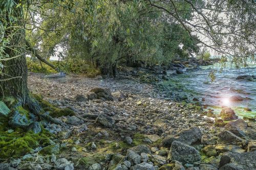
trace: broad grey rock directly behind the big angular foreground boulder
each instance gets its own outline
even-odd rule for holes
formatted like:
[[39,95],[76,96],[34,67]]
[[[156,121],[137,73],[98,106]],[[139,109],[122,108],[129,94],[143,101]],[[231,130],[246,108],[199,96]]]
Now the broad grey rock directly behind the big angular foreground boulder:
[[180,141],[185,144],[193,144],[201,142],[202,133],[198,127],[191,127],[189,129],[182,130],[175,136],[167,136],[163,139],[164,147],[170,147],[174,140]]

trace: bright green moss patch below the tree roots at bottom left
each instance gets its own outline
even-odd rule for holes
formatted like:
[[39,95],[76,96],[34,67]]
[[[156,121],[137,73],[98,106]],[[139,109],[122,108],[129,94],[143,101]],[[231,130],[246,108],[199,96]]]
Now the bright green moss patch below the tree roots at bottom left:
[[39,134],[33,132],[24,132],[21,129],[15,129],[14,132],[8,133],[8,127],[0,126],[0,158],[6,159],[10,157],[20,157],[33,149],[39,147],[39,145],[48,145],[51,135],[42,131]]

